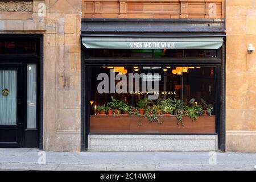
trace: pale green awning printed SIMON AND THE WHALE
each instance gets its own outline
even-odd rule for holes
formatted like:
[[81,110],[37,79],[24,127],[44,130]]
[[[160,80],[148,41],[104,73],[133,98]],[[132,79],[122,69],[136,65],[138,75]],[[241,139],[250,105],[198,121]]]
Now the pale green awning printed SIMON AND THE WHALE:
[[90,49],[218,49],[222,43],[222,37],[82,37],[82,44]]

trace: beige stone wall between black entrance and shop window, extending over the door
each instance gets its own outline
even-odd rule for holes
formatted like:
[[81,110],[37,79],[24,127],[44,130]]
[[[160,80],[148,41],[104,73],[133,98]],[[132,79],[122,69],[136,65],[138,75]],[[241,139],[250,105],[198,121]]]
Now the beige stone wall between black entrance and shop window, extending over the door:
[[[81,0],[5,2],[1,33],[44,35],[44,150],[80,151]],[[19,3],[31,9],[16,11]]]

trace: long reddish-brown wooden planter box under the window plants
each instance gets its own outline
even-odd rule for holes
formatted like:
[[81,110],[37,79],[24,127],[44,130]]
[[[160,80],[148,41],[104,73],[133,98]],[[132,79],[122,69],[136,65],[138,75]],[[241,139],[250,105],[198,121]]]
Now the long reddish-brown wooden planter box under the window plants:
[[90,133],[216,133],[215,116],[202,115],[192,121],[189,117],[183,117],[184,127],[177,125],[176,116],[163,116],[162,125],[157,122],[148,122],[142,119],[139,127],[139,117],[134,115],[90,115]]

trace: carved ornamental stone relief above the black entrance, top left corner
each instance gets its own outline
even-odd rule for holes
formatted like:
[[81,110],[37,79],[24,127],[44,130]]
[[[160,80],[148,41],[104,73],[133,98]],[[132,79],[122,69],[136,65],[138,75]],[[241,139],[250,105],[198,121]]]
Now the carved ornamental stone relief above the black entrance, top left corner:
[[33,1],[0,1],[0,11],[32,13]]

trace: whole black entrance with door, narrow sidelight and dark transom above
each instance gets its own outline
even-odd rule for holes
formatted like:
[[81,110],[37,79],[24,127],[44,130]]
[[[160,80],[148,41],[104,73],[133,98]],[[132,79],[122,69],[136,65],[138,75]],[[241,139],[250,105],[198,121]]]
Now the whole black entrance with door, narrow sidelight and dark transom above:
[[43,35],[0,34],[0,147],[43,147]]

